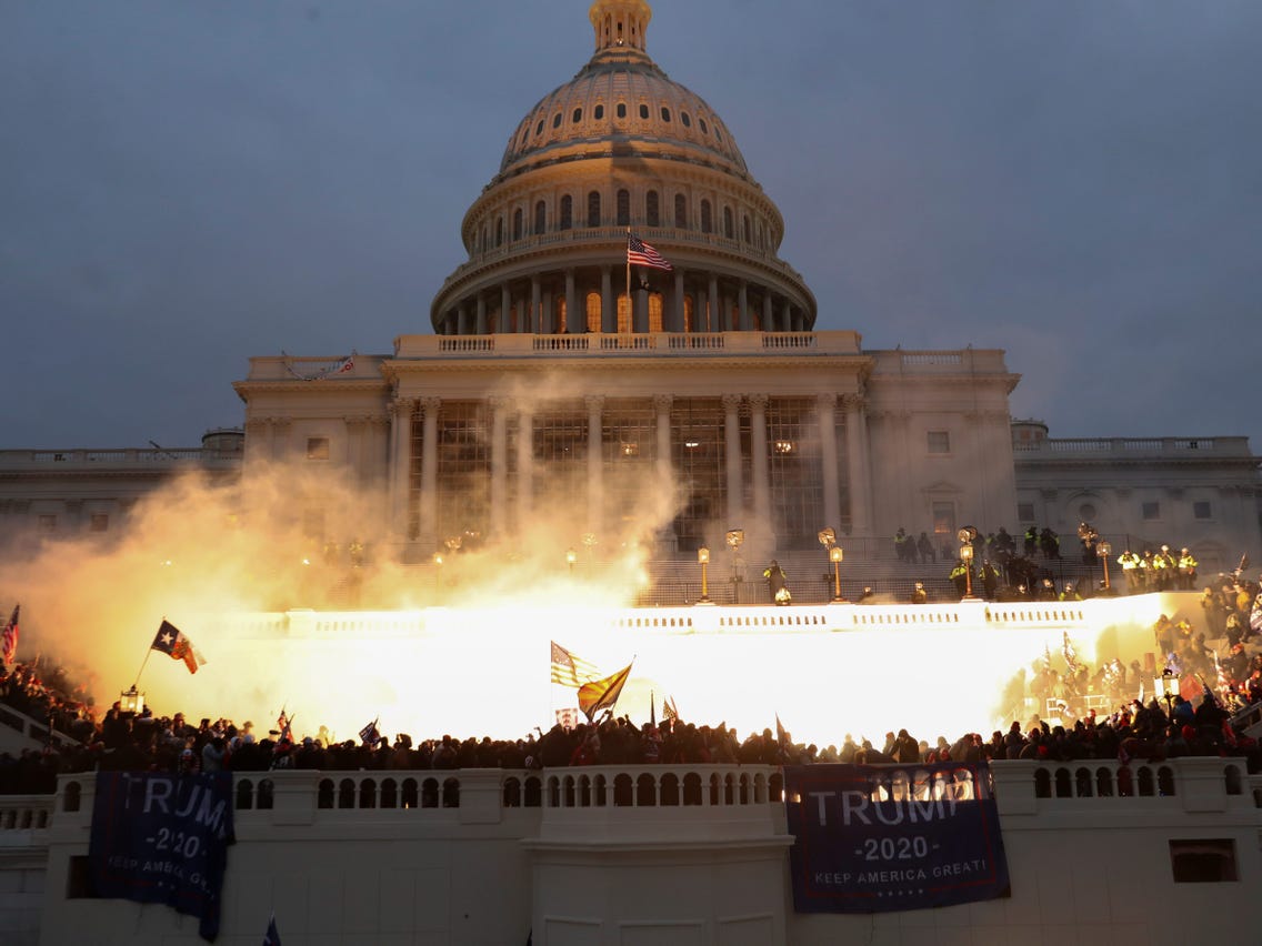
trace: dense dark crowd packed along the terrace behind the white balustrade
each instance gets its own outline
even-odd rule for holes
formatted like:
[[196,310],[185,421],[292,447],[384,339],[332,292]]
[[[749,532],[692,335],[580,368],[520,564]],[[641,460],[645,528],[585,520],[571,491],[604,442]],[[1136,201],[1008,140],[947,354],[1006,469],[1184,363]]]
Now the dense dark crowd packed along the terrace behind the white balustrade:
[[[1206,595],[1206,602],[1214,600],[1206,604],[1206,622],[1214,623],[1204,632],[1166,616],[1153,627],[1155,653],[1165,661],[1165,676],[1179,681],[1177,691],[1145,692],[1160,671],[1138,660],[1088,666],[1079,661],[1066,634],[1063,661],[1049,652],[1027,679],[1016,681],[1012,715],[1029,713],[1025,723],[1015,718],[1006,730],[994,730],[988,738],[970,732],[953,740],[938,735],[934,743],[904,729],[886,733],[877,743],[847,734],[840,745],[820,747],[796,743],[782,730],[765,729],[741,739],[724,723],[698,725],[671,718],[636,724],[612,714],[596,723],[558,724],[510,740],[443,735],[414,742],[403,733],[390,739],[375,725],[366,727],[357,740],[332,739],[323,728],[295,738],[284,713],[276,728],[265,733],[256,733],[251,721],[237,725],[230,719],[202,719],[193,724],[182,713],[158,716],[148,706],[127,713],[119,703],[97,719],[63,672],[53,671],[44,680],[38,667],[19,663],[0,675],[0,704],[48,720],[50,738],[42,749],[0,753],[0,793],[50,793],[59,773],[93,769],[445,771],[637,763],[1126,761],[1208,754],[1242,756],[1251,771],[1262,771],[1262,748],[1230,725],[1234,714],[1262,703],[1262,652],[1254,652],[1262,628],[1246,624],[1239,639],[1214,634],[1224,594],[1225,589],[1219,589]],[[1238,594],[1235,604],[1242,602],[1243,594]],[[1222,619],[1224,631],[1228,624],[1238,627],[1230,616]],[[1225,638],[1225,657],[1206,642],[1219,637]],[[1095,709],[1102,699],[1112,711]],[[53,739],[53,733],[61,738]]]

